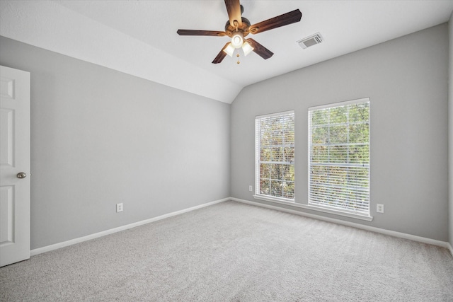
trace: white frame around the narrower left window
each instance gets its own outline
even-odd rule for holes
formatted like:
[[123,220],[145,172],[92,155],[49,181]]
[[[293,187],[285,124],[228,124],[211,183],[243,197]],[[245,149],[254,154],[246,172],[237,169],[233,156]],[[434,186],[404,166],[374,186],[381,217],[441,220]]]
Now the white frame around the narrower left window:
[[[283,115],[292,115],[293,119],[293,124],[292,124],[292,131],[293,131],[293,141],[292,141],[292,148],[294,151],[294,157],[292,163],[293,170],[295,170],[296,165],[296,156],[295,156],[295,113],[294,110],[288,110],[288,111],[283,111],[283,112],[275,112],[275,113],[270,113],[268,115],[257,115],[255,117],[255,194],[253,195],[254,198],[256,199],[261,199],[261,200],[266,200],[266,201],[273,201],[273,202],[284,202],[284,203],[291,203],[294,204],[295,200],[295,172],[294,172],[294,191],[293,191],[293,198],[285,198],[285,197],[277,197],[274,195],[268,195],[268,194],[261,194],[260,193],[260,149],[261,149],[261,144],[260,144],[260,135],[258,135],[258,122],[262,120],[263,118],[268,118],[268,117],[279,117]],[[284,163],[284,162],[281,162]],[[282,180],[283,181],[283,180]]]

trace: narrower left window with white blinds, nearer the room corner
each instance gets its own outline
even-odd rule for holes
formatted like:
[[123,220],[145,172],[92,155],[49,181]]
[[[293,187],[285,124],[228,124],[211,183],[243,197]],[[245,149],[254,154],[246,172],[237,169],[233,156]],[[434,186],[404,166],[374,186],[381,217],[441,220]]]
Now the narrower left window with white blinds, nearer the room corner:
[[255,119],[256,194],[294,202],[294,111]]

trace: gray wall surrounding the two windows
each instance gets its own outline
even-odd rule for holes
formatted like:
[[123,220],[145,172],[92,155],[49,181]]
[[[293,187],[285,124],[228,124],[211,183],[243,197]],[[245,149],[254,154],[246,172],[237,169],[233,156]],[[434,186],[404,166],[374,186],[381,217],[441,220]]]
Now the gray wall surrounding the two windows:
[[231,105],[231,197],[261,202],[248,192],[256,115],[295,110],[296,202],[306,204],[307,108],[369,97],[373,221],[293,209],[447,241],[447,30],[444,23],[244,88]]

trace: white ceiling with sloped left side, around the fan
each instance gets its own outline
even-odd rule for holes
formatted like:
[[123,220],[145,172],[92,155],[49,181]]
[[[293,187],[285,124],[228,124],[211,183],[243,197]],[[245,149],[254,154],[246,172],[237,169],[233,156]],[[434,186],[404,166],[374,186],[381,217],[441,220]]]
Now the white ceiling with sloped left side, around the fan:
[[[179,36],[178,29],[224,30],[224,1],[5,1],[0,35],[231,103],[245,86],[447,22],[453,0],[252,1],[258,23],[299,8],[302,20],[251,35],[274,52],[212,60],[228,37]],[[302,50],[297,40],[321,33]],[[1,46],[0,46],[1,47]]]

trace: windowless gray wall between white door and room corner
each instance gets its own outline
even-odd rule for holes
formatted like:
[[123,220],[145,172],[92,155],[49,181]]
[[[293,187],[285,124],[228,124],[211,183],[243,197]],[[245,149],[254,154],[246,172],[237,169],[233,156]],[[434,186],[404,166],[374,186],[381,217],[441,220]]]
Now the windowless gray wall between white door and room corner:
[[31,73],[32,249],[229,197],[230,105],[0,45]]

